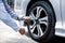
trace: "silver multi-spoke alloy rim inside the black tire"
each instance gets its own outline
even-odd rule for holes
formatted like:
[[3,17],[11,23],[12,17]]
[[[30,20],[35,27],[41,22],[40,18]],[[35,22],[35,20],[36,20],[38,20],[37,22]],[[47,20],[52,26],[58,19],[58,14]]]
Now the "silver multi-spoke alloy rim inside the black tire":
[[[41,14],[44,12],[44,16],[41,18]],[[42,14],[43,15],[43,14]],[[34,37],[40,38],[44,34],[48,28],[48,14],[47,11],[42,6],[36,6],[30,12],[31,24],[29,26],[29,30]],[[41,26],[42,25],[42,26]],[[42,28],[43,27],[43,28]],[[35,30],[37,29],[36,33]],[[42,30],[46,29],[46,30]]]

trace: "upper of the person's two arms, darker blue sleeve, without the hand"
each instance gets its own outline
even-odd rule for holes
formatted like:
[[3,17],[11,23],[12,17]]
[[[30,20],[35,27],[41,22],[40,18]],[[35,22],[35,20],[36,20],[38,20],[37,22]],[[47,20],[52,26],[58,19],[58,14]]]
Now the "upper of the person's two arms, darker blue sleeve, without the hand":
[[11,11],[11,8],[9,6],[6,0],[2,0],[4,8],[6,10],[6,12],[11,15],[12,18],[16,19],[16,20],[21,20],[22,18],[18,17],[18,15],[16,13],[14,13],[13,11]]

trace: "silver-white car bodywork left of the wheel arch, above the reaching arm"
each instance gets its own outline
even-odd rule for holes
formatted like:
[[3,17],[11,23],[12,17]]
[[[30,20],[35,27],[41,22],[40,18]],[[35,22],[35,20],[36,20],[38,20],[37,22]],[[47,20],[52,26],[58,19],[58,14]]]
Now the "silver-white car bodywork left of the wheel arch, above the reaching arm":
[[29,2],[30,2],[30,0],[15,0],[15,2],[14,2],[15,12],[18,13],[20,15],[25,16],[27,5],[28,5]]

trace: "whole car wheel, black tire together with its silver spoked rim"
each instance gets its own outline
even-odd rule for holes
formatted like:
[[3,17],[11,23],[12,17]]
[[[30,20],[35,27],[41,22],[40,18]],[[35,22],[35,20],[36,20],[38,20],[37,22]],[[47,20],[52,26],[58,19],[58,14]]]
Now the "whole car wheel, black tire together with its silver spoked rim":
[[[43,10],[41,11],[41,9],[43,9]],[[36,11],[38,11],[38,12],[41,11],[41,12],[39,12],[40,15],[38,17],[37,17],[37,13],[38,12],[36,12]],[[54,13],[53,13],[53,10],[52,10],[51,5],[47,1],[38,1],[38,2],[34,3],[30,6],[30,9],[28,10],[27,13],[28,13],[27,16],[30,16],[31,19],[36,22],[36,25],[35,25],[36,29],[34,31],[31,31],[34,27],[30,27],[30,26],[35,22],[31,20],[28,24],[28,32],[29,32],[30,38],[32,40],[37,41],[37,42],[48,42],[48,41],[50,41],[53,38],[54,33],[55,33],[55,29],[54,29],[54,24],[55,24],[55,22],[54,22]],[[34,14],[35,17],[32,16],[31,13]],[[46,26],[43,24],[41,24],[41,23],[39,24],[39,22],[41,20],[40,17],[44,17],[44,16],[48,16],[48,19],[43,19],[43,22],[47,20]],[[40,25],[39,29],[37,28],[37,25]],[[46,29],[44,29],[44,27],[46,27]],[[43,33],[40,31],[40,29],[42,30]],[[42,34],[40,35],[39,32],[42,33]]]

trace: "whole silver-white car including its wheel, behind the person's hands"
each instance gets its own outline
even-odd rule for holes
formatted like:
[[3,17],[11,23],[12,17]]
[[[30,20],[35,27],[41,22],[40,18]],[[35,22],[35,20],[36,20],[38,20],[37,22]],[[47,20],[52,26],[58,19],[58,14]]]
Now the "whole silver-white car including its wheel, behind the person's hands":
[[14,8],[31,17],[28,31],[35,41],[65,37],[65,0],[15,0]]

